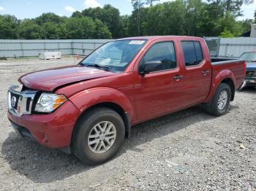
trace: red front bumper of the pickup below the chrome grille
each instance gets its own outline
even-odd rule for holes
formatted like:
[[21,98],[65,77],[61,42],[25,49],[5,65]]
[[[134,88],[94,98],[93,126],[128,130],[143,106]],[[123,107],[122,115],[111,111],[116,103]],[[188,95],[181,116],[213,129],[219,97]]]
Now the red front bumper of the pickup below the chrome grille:
[[53,149],[69,147],[72,130],[79,115],[79,110],[70,101],[65,102],[52,114],[17,116],[8,112],[8,118],[15,130],[18,130],[23,136]]

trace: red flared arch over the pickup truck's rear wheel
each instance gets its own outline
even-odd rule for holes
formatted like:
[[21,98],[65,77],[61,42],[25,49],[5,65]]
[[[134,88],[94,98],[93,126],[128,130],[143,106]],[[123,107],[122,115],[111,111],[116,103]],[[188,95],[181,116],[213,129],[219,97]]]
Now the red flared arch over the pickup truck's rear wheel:
[[217,74],[215,77],[213,75],[213,78],[211,80],[211,90],[208,93],[206,100],[204,101],[205,103],[211,101],[211,99],[214,97],[214,94],[217,91],[217,88],[219,87],[219,84],[224,79],[231,79],[233,81],[233,84],[236,86],[236,78],[232,71],[230,71],[228,69],[220,71],[219,74]]

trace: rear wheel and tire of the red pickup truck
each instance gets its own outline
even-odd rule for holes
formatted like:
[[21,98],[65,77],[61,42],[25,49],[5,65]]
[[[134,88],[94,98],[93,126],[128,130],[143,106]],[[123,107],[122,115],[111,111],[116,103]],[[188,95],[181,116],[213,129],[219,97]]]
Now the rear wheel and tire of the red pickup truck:
[[[223,101],[222,102],[222,101],[219,101],[219,99],[221,98],[221,96],[222,96],[221,93],[223,93],[223,92],[224,92],[224,94],[222,94],[222,95],[227,95],[227,100],[224,101],[222,99],[222,101]],[[217,91],[214,95],[214,98],[211,100],[211,105],[206,106],[206,111],[209,114],[212,114],[212,115],[215,115],[215,116],[220,116],[222,114],[227,113],[227,108],[230,104],[230,98],[231,98],[230,86],[227,85],[227,84],[221,83],[219,85],[219,87],[217,88]],[[220,104],[218,104],[218,101],[220,102]],[[225,104],[223,104],[224,102],[225,102]]]

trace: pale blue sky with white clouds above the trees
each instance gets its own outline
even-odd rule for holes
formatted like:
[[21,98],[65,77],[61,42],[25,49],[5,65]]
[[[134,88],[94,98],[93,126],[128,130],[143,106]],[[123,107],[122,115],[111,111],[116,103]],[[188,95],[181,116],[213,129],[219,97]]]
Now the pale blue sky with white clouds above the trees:
[[[172,1],[160,0],[159,2]],[[15,15],[18,19],[34,18],[43,12],[54,12],[60,16],[70,16],[76,10],[89,7],[103,7],[111,4],[121,12],[121,15],[129,15],[132,12],[130,0],[0,0],[0,15]],[[243,5],[243,17],[238,20],[253,18],[256,9],[256,0],[253,4]]]

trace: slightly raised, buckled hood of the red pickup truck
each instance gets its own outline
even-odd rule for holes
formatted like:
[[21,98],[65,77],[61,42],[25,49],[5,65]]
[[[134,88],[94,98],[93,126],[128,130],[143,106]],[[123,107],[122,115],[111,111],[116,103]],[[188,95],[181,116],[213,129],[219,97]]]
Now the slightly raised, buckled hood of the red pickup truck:
[[18,80],[31,89],[52,92],[62,85],[115,74],[117,73],[86,66],[66,66],[25,74]]

